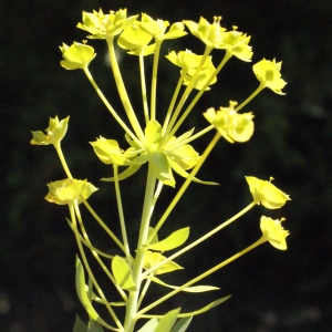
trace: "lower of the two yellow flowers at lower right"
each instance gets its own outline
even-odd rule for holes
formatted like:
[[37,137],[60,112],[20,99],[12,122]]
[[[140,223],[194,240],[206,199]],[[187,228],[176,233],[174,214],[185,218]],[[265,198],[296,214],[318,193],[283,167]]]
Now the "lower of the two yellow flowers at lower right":
[[260,218],[260,229],[263,238],[266,238],[267,241],[269,241],[274,248],[286,250],[286,238],[289,236],[289,231],[283,229],[281,221],[283,221],[283,219],[273,220],[269,217],[262,216]]

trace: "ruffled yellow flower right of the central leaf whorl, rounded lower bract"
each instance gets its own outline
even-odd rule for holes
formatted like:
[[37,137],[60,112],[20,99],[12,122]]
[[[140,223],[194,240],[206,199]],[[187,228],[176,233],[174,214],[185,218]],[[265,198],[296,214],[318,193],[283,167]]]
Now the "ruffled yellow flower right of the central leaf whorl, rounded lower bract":
[[203,115],[212,124],[220,135],[229,143],[247,142],[253,134],[253,115],[251,113],[239,114],[234,108],[237,102],[229,102],[229,107],[220,107],[220,111],[208,108]]

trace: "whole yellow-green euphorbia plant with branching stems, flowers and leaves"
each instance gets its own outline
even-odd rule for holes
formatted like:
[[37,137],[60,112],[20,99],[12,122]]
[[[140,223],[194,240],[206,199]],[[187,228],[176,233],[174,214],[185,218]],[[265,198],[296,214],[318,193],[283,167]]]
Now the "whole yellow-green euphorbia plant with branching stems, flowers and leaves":
[[[176,258],[239,219],[256,205],[261,204],[267,209],[277,209],[290,199],[271,180],[247,176],[246,179],[252,201],[234,217],[190,243],[187,243],[189,227],[178,229],[163,239],[158,237],[158,231],[168,217],[174,217],[170,216],[174,207],[193,181],[198,183],[200,186],[215,185],[212,181],[197,178],[196,175],[216,144],[220,141],[222,144],[245,143],[252,136],[255,131],[252,113],[239,113],[239,111],[264,87],[269,87],[278,94],[283,94],[282,89],[286,82],[280,74],[281,62],[263,59],[252,68],[259,81],[259,86],[247,100],[240,104],[230,101],[229,105],[221,106],[217,111],[210,107],[208,110],[196,110],[196,114],[191,114],[200,96],[212,89],[217,75],[231,58],[246,62],[250,62],[252,58],[251,46],[249,45],[250,37],[239,32],[237,27],[227,31],[220,25],[220,17],[216,17],[212,23],[209,23],[206,19],[200,18],[198,23],[185,20],[170,25],[168,21],[154,20],[145,13],[139,19],[138,14],[127,17],[125,9],[116,12],[111,11],[106,14],[102,10],[91,13],[83,12],[82,23],[79,23],[77,28],[87,32],[90,40],[101,39],[106,41],[111,69],[124,111],[113,108],[89,70],[91,61],[96,55],[94,49],[86,41],[83,43],[74,42],[72,45],[63,43],[60,46],[63,56],[61,65],[66,70],[83,70],[113,118],[123,128],[127,142],[126,147],[121,147],[115,137],[112,136],[100,136],[96,141],[90,142],[100,160],[110,165],[113,169],[113,176],[103,177],[102,180],[114,183],[115,186],[121,225],[121,235],[115,235],[112,225],[106,225],[87,203],[89,197],[97,188],[86,179],[82,180],[73,177],[65,162],[61,143],[68,131],[69,117],[59,121],[55,116],[50,118],[45,133],[41,131],[32,132],[31,144],[53,145],[65,173],[64,179],[48,185],[49,194],[45,199],[50,203],[69,206],[70,218],[68,218],[68,224],[79,247],[76,290],[87,312],[89,321],[86,325],[77,318],[74,332],[104,330],[133,332],[137,329],[141,332],[185,331],[194,315],[220,304],[229,297],[224,295],[203,308],[197,308],[193,312],[187,312],[186,308],[175,308],[159,315],[154,313],[154,309],[179,292],[199,293],[217,290],[217,287],[197,283],[263,242],[270,242],[277,249],[287,249],[286,237],[289,232],[281,226],[283,218],[273,220],[270,217],[262,216],[260,219],[262,236],[242,251],[199,276],[194,276],[184,284],[175,286],[163,281],[164,273],[183,269],[175,261]],[[195,54],[189,50],[170,51],[164,56],[162,44],[170,39],[185,37],[187,34],[185,28],[197,37],[199,42],[205,44],[204,53]],[[142,110],[134,110],[132,106],[115,55],[116,46],[127,50],[131,55],[137,56],[141,73],[141,76],[137,77],[137,84],[142,91]],[[220,63],[214,64],[210,55],[212,51],[224,52],[224,59]],[[148,55],[153,58],[149,93],[146,89],[144,68],[145,59]],[[158,63],[165,58],[169,61],[169,65],[175,64],[176,68],[180,69],[179,79],[169,105],[157,105]],[[138,112],[143,112],[143,123],[138,121]],[[194,129],[185,133],[180,131],[183,123],[189,115],[201,117],[204,127],[196,134],[194,134]],[[212,132],[214,136],[205,151],[199,154],[191,143],[209,132]],[[131,225],[126,222],[125,211],[123,210],[121,181],[131,180],[131,176],[138,170],[141,176],[146,176],[146,187],[142,210],[136,211],[141,220],[139,232],[137,239],[133,239],[127,237],[127,228]],[[180,188],[176,188],[177,175],[185,178]],[[164,186],[176,189],[174,189],[174,198],[169,206],[162,217],[156,220],[154,210]],[[115,256],[110,256],[102,248],[94,247],[84,227],[81,206],[87,209],[95,221],[114,241],[114,245],[117,246]],[[170,250],[174,253],[168,255]],[[100,284],[86,257],[87,251],[101,266],[108,282],[117,290],[118,295],[116,298],[107,299],[104,294],[102,289],[108,286]],[[153,303],[145,303],[144,298],[152,282],[168,288],[170,291]],[[105,311],[102,315],[100,314],[102,305],[106,308],[108,317]],[[123,307],[125,310],[122,310]],[[138,320],[147,320],[147,322],[143,321],[136,324]]]

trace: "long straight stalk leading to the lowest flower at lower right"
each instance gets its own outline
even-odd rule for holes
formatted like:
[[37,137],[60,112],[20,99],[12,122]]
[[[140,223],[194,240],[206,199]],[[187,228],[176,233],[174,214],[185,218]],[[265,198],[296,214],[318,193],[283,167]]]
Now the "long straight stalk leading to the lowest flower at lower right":
[[191,279],[190,281],[184,283],[181,287],[177,288],[176,290],[169,292],[168,294],[166,294],[165,297],[158,299],[157,301],[153,302],[152,304],[145,307],[143,310],[137,312],[137,319],[139,318],[139,315],[142,315],[144,312],[147,312],[148,310],[155,308],[156,305],[163,303],[164,301],[168,300],[169,298],[174,297],[175,294],[177,294],[178,292],[180,292],[183,289],[193,286],[194,283],[200,281],[201,279],[212,274],[214,272],[216,272],[217,270],[224,268],[225,266],[227,266],[228,263],[232,262],[234,260],[238,259],[239,257],[243,256],[245,253],[247,253],[248,251],[252,250],[253,248],[258,247],[259,245],[266,242],[267,239],[266,237],[261,237],[258,241],[256,241],[255,243],[252,243],[251,246],[249,246],[248,248],[243,249],[242,251],[234,255],[232,257],[226,259],[225,261],[220,262],[219,264],[215,266],[214,268],[207,270],[206,272],[199,274],[198,277]]

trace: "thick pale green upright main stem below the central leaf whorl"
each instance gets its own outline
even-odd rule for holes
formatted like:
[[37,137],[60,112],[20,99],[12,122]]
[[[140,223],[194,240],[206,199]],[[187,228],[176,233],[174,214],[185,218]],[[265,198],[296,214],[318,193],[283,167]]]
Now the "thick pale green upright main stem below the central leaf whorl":
[[154,208],[154,190],[156,185],[156,176],[153,170],[151,163],[148,163],[148,172],[147,172],[147,179],[146,179],[146,189],[145,189],[145,197],[144,197],[144,206],[143,206],[143,214],[142,214],[142,221],[141,221],[141,229],[139,229],[139,237],[137,243],[137,251],[136,257],[133,263],[133,279],[136,286],[136,290],[131,291],[128,295],[128,300],[126,303],[126,315],[124,322],[124,331],[125,332],[133,332],[136,323],[136,313],[138,311],[138,298],[139,298],[139,289],[143,281],[142,271],[144,264],[144,256],[146,252],[146,248],[144,243],[147,240],[148,236],[148,227],[151,221],[151,216]]

